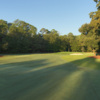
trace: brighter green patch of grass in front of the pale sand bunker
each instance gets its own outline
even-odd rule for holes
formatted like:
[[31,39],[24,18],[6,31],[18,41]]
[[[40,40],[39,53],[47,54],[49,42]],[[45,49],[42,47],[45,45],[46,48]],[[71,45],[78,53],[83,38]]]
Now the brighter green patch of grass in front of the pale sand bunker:
[[62,58],[67,62],[76,64],[79,67],[100,69],[100,59],[90,58],[93,53],[83,53],[83,55],[65,55]]

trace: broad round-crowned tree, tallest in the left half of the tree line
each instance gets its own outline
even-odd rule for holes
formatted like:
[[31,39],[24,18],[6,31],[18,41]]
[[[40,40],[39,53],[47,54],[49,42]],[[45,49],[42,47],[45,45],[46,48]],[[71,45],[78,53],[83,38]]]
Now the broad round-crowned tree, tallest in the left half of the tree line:
[[36,35],[36,27],[20,20],[14,21],[9,28],[9,51],[26,53],[31,51],[32,38]]

